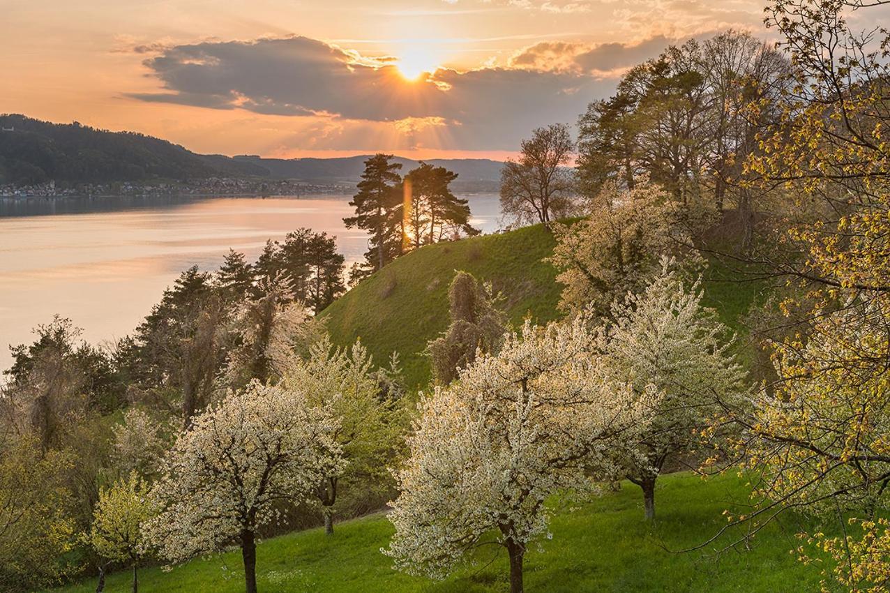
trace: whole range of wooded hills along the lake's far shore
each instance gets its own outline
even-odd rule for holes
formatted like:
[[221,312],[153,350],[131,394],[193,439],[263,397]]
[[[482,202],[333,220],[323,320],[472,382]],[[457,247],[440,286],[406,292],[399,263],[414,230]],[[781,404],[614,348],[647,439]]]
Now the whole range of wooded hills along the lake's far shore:
[[[189,180],[214,176],[271,177],[311,183],[356,183],[368,156],[261,158],[202,155],[159,138],[0,115],[0,185]],[[404,171],[416,160],[397,158]],[[458,175],[457,190],[497,191],[501,163],[488,159],[433,159]]]

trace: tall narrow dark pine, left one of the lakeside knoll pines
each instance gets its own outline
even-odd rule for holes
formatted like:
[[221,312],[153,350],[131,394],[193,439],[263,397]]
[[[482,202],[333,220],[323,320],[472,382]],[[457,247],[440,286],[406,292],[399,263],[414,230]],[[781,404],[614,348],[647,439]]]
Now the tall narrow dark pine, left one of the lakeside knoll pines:
[[399,184],[401,163],[392,163],[391,154],[377,153],[365,161],[359,192],[350,206],[355,215],[344,218],[347,229],[358,227],[370,233],[365,260],[370,272],[376,272],[401,253],[401,206]]

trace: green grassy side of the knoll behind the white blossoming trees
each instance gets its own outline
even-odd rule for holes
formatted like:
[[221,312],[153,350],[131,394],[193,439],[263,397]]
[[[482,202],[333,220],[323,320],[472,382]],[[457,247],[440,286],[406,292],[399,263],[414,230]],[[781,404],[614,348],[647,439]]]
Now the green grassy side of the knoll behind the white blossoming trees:
[[[448,328],[448,287],[455,271],[490,281],[506,296],[514,325],[529,314],[538,322],[551,321],[560,316],[556,305],[562,285],[554,280],[554,267],[542,260],[553,248],[554,238],[542,225],[427,246],[361,282],[322,316],[335,344],[348,345],[360,337],[378,363],[394,350],[409,386],[424,386],[430,369],[423,351]],[[738,318],[755,298],[756,286],[736,280],[714,264],[706,274],[705,304],[738,331]]]

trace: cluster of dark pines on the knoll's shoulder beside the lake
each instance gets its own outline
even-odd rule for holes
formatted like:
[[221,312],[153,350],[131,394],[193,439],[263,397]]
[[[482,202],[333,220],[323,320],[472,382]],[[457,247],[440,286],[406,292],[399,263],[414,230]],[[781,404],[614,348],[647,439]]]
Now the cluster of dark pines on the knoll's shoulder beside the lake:
[[355,215],[344,218],[346,228],[358,227],[370,235],[365,262],[353,266],[351,280],[424,245],[479,234],[470,224],[468,201],[449,187],[456,173],[421,162],[402,177],[401,163],[392,158],[379,153],[365,161],[359,192],[350,202]]

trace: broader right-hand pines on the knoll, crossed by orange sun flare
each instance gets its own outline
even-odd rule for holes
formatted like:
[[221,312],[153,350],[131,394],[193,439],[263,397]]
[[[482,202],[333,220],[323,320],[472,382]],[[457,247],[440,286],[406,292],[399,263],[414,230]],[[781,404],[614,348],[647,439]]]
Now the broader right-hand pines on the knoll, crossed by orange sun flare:
[[404,205],[408,212],[404,213],[404,220],[410,248],[435,243],[447,233],[479,234],[479,230],[470,225],[468,201],[457,198],[449,188],[455,179],[457,173],[429,163],[421,163],[405,175],[402,183],[403,191],[408,194]]

